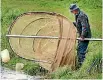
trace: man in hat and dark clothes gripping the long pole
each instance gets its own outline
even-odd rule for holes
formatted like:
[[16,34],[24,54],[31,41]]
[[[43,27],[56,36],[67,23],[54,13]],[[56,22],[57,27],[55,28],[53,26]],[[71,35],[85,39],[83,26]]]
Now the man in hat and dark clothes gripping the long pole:
[[70,5],[70,11],[75,15],[76,22],[73,22],[73,24],[77,28],[80,37],[77,46],[77,57],[80,67],[85,59],[86,50],[89,44],[89,41],[84,39],[91,38],[91,30],[87,15],[83,13],[76,4]]

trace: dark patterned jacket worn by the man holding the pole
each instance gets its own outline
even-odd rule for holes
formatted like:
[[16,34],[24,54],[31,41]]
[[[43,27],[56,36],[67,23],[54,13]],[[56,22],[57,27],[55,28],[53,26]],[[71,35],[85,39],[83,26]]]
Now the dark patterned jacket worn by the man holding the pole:
[[79,33],[79,37],[91,38],[91,30],[87,15],[79,11],[79,13],[75,15],[75,20],[76,22],[74,24]]

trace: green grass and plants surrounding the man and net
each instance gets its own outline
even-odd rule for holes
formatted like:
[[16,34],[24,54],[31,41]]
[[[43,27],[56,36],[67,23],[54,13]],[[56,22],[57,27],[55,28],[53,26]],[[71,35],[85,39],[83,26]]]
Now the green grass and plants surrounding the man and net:
[[[15,69],[17,62],[25,64],[24,72],[35,75],[39,74],[40,66],[37,63],[27,61],[19,58],[10,48],[9,41],[6,38],[8,28],[13,20],[20,14],[30,11],[48,11],[57,12],[66,16],[71,21],[74,21],[74,15],[69,12],[68,6],[71,3],[77,3],[81,10],[87,13],[92,37],[102,38],[102,0],[2,0],[2,41],[1,48],[10,51],[11,60],[3,66]],[[101,59],[102,58],[102,42],[90,42],[88,53],[85,62],[79,70],[72,71],[68,67],[60,68],[59,70],[49,74],[49,78],[71,78],[71,79],[101,79]],[[96,65],[93,66],[90,73],[88,69],[95,60],[98,60]]]

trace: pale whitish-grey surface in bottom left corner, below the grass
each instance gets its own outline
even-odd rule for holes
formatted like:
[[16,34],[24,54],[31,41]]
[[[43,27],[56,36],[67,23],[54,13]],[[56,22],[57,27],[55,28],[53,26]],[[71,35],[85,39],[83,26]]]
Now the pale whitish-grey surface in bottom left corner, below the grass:
[[40,76],[30,76],[4,67],[0,67],[0,80],[41,80]]

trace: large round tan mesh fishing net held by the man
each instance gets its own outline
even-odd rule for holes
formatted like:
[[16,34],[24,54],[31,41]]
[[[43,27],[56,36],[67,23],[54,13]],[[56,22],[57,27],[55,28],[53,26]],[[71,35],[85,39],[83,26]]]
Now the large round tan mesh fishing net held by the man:
[[9,37],[9,42],[17,55],[29,60],[38,60],[38,63],[49,71],[64,65],[75,66],[76,30],[72,22],[60,14],[24,13],[14,20],[8,34],[56,36],[58,39]]

